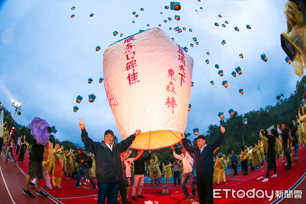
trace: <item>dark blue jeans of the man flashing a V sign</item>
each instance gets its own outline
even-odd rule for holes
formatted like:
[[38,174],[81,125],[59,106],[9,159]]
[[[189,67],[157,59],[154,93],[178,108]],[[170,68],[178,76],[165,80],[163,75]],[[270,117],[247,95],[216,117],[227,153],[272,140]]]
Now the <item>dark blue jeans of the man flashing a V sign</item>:
[[[98,183],[98,204],[105,204],[105,198],[107,197],[107,204],[115,203],[118,192],[118,183]],[[126,188],[126,187],[125,187]],[[126,194],[125,194],[126,195]],[[126,197],[121,195],[121,197]]]

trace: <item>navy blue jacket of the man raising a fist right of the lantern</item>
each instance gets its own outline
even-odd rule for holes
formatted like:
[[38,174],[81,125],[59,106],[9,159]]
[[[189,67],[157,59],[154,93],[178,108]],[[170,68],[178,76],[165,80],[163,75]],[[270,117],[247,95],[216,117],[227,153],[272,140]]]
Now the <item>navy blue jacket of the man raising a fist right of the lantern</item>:
[[214,172],[214,150],[221,144],[224,134],[220,134],[216,141],[206,144],[201,152],[198,147],[192,147],[188,144],[187,139],[182,140],[186,151],[195,155],[195,171],[197,174],[213,173]]

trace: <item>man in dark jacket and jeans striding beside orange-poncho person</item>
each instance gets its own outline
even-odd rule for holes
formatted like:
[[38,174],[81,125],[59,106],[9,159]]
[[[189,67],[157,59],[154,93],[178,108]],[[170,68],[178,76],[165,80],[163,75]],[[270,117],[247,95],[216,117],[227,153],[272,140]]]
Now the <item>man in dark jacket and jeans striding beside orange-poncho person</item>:
[[80,181],[81,181],[81,176],[82,174],[86,176],[86,178],[90,181],[93,190],[97,189],[97,186],[94,184],[93,180],[89,176],[89,171],[87,164],[90,162],[91,157],[83,153],[82,147],[78,148],[78,155],[75,156],[75,162],[79,163],[79,171],[77,174],[77,184],[73,185],[75,188],[80,188]]

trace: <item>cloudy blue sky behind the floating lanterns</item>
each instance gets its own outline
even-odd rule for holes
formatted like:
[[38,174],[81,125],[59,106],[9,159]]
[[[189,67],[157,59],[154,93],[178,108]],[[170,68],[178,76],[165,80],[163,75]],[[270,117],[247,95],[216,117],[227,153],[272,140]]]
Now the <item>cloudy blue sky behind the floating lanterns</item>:
[[[179,2],[181,11],[166,10],[170,1],[161,0],[1,1],[0,100],[12,113],[11,99],[21,103],[22,114],[15,116],[19,124],[28,124],[35,116],[46,119],[56,127],[56,137],[61,141],[82,144],[79,117],[85,118],[93,140],[103,139],[107,129],[121,140],[104,83],[98,83],[103,78],[103,52],[110,44],[159,24],[177,44],[189,47],[188,54],[194,60],[187,133],[198,127],[204,134],[209,124],[219,124],[220,111],[225,117],[229,117],[227,111],[231,108],[244,114],[274,106],[278,94],[290,96],[300,78],[285,61],[280,43],[279,35],[287,29],[285,0]],[[71,10],[72,6],[75,10]],[[90,13],[94,16],[90,17]],[[180,15],[181,20],[174,20],[174,15]],[[164,23],[168,17],[172,20]],[[223,28],[225,21],[228,24]],[[176,26],[187,30],[169,30]],[[114,31],[123,36],[113,36]],[[199,45],[195,45],[193,37]],[[99,52],[96,46],[101,47]],[[243,59],[239,57],[241,53]],[[263,53],[267,62],[261,60]],[[223,70],[223,77],[218,75],[215,64]],[[237,66],[243,73],[234,78],[231,72]],[[88,78],[93,83],[88,84]],[[223,80],[228,81],[226,89],[221,85]],[[243,95],[238,92],[240,88]],[[91,93],[97,96],[94,103],[88,102]],[[84,99],[74,113],[78,95]]]

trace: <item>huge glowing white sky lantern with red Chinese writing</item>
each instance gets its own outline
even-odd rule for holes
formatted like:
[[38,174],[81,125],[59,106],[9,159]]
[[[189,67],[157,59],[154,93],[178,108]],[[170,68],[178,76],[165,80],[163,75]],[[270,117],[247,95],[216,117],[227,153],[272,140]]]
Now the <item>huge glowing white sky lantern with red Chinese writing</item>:
[[110,45],[103,56],[106,94],[123,139],[132,148],[173,145],[185,132],[193,59],[161,29]]

